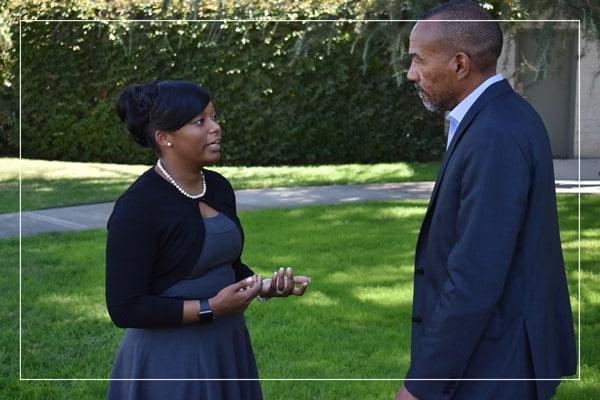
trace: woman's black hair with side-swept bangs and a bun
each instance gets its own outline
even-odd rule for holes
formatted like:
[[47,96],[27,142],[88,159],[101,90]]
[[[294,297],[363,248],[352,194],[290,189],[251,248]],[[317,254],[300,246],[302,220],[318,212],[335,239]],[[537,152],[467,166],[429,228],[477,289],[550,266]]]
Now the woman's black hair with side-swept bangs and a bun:
[[137,143],[158,151],[157,130],[176,131],[209,102],[210,94],[194,82],[154,81],[123,89],[117,98],[117,114]]

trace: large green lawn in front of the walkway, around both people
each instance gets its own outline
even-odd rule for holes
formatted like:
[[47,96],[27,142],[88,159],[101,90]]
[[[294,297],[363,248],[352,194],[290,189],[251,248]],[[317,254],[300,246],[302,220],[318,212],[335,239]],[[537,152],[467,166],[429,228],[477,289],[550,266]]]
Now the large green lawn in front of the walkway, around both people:
[[[303,298],[247,311],[262,378],[402,378],[409,361],[414,244],[425,201],[243,213],[245,260],[268,274],[280,264],[313,278]],[[577,197],[559,196],[561,235],[577,315]],[[600,391],[600,197],[582,197],[580,382],[561,400]],[[123,331],[104,305],[105,232],[23,239],[24,378],[105,378]],[[102,399],[106,382],[18,381],[17,240],[0,240],[0,398]],[[261,383],[267,400],[391,399],[400,382]]]

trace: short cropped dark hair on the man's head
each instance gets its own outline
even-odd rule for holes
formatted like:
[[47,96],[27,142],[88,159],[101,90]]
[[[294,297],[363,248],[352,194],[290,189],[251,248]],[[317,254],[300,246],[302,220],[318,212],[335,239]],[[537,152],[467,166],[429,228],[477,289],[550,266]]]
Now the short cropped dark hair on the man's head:
[[480,71],[495,67],[502,52],[502,30],[477,2],[449,1],[427,11],[420,19],[480,20],[440,23],[440,36],[449,48],[467,53]]

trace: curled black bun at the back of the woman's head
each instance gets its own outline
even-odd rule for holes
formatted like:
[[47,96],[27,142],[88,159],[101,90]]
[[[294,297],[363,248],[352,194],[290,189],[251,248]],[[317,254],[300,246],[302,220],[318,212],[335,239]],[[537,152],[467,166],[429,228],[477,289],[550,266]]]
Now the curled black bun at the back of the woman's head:
[[117,98],[117,114],[121,121],[127,123],[127,130],[137,143],[153,147],[149,138],[151,114],[154,99],[158,95],[156,83],[147,85],[133,84],[127,86]]

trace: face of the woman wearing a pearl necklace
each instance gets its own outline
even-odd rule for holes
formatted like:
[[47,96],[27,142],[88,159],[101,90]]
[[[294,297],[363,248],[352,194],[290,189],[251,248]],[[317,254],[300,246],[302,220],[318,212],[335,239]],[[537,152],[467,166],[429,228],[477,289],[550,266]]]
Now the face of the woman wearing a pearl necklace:
[[221,127],[212,102],[170,136],[173,143],[170,149],[180,161],[205,166],[221,158]]

